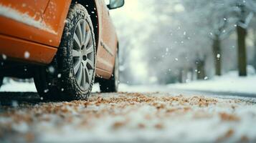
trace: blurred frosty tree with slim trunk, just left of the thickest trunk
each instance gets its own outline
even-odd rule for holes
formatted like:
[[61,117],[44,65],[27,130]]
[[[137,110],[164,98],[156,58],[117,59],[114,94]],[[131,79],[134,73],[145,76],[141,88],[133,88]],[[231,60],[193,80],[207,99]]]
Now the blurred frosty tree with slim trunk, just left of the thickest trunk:
[[[201,30],[205,36],[212,40],[212,54],[214,57],[215,75],[222,75],[222,44],[224,39],[234,31],[234,20],[229,17],[230,9],[227,9],[227,2],[217,1],[189,1],[183,0],[189,15],[203,28]],[[204,19],[204,20],[202,20]]]

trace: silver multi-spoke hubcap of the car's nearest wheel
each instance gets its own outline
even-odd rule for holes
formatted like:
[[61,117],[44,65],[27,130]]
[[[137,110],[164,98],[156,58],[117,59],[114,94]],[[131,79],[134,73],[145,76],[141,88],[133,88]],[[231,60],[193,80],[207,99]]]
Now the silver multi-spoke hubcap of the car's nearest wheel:
[[90,26],[84,19],[77,22],[72,49],[75,79],[81,89],[90,87],[95,66],[95,50]]

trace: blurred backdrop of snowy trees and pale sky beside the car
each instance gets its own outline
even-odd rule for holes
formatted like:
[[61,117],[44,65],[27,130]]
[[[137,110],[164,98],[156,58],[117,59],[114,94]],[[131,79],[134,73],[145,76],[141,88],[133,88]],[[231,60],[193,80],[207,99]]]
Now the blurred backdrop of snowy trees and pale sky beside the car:
[[120,82],[255,74],[255,11],[254,0],[126,0],[110,11],[120,39]]

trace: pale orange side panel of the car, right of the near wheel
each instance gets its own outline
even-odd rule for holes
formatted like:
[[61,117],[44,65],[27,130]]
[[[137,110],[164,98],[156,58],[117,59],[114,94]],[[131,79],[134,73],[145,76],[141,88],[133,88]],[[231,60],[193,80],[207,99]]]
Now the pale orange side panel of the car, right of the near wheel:
[[101,35],[100,48],[98,49],[98,69],[108,72],[108,77],[112,74],[117,50],[117,38],[113,22],[110,19],[109,9],[104,0],[101,3]]

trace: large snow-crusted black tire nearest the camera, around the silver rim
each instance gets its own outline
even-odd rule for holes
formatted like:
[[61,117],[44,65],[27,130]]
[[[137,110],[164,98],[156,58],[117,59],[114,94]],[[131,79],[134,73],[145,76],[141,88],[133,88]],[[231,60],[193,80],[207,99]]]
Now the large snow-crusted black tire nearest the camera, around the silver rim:
[[[82,21],[83,23],[81,23],[80,21]],[[86,26],[82,25],[84,23],[86,24]],[[83,46],[81,46],[81,49],[79,50],[80,52],[87,52],[87,56],[89,56],[87,46],[89,46],[90,44],[90,49],[92,49],[92,52],[90,53],[90,58],[93,58],[93,65],[91,66],[92,69],[90,69],[89,73],[88,69],[87,71],[85,71],[84,69],[85,66],[87,66],[87,62],[85,62],[85,64],[82,63],[82,60],[85,60],[83,59],[84,56],[77,56],[80,60],[79,65],[81,66],[78,67],[77,71],[80,71],[82,76],[89,76],[89,74],[91,76],[90,82],[88,83],[83,81],[89,79],[89,77],[85,78],[80,76],[80,84],[78,84],[77,82],[77,73],[75,74],[74,69],[74,49],[76,47],[75,44],[78,45],[77,43],[75,43],[74,37],[75,33],[77,35],[76,30],[78,24],[80,25],[79,34],[81,34],[81,31],[84,34],[80,35],[82,36],[82,38],[80,39],[82,39],[83,42],[86,42],[87,36],[90,35],[91,37],[87,41],[87,45],[83,45],[84,43],[80,44]],[[81,28],[83,30],[81,30]],[[85,51],[83,51],[82,49],[85,49]],[[70,101],[74,99],[87,99],[93,88],[95,78],[95,51],[95,35],[93,33],[93,24],[90,20],[90,16],[84,6],[80,4],[72,4],[70,6],[70,11],[67,15],[67,19],[65,22],[65,28],[62,34],[62,41],[60,43],[57,54],[52,61],[52,64],[47,67],[39,67],[35,70],[36,73],[34,76],[34,83],[37,87],[39,96],[47,100]],[[85,86],[85,84],[87,86]],[[84,85],[84,88],[82,87],[82,85]]]

